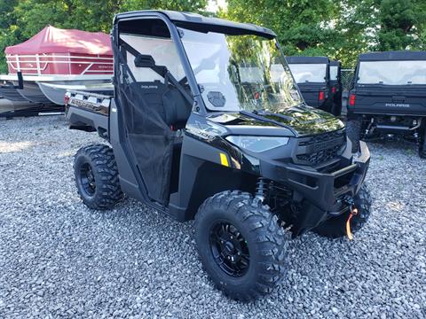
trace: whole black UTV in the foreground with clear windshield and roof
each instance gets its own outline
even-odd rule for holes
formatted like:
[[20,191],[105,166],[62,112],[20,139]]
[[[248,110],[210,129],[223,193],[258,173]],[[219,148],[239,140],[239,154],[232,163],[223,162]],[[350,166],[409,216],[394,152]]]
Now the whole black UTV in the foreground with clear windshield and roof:
[[[75,156],[83,203],[123,193],[180,222],[212,281],[252,300],[280,283],[285,229],[342,237],[367,222],[367,145],[305,105],[275,34],[184,12],[114,18],[114,97],[69,91],[70,128],[111,145]],[[261,76],[259,76],[261,75]]]

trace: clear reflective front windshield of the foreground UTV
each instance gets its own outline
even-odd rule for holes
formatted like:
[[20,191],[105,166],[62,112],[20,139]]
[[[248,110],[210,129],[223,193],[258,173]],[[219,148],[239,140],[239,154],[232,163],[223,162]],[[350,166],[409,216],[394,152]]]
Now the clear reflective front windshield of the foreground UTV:
[[184,29],[182,43],[209,110],[280,112],[303,103],[273,40]]

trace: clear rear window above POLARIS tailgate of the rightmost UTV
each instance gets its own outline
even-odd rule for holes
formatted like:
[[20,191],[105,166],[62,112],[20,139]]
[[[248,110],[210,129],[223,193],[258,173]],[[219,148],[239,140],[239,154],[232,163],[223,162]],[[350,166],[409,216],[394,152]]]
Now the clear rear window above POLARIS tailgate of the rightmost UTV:
[[426,84],[426,61],[360,62],[360,84]]

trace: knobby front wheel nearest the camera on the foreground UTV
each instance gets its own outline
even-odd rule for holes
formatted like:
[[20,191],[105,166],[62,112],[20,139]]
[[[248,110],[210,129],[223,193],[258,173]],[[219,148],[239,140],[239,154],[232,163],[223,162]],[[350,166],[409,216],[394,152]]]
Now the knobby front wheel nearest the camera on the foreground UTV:
[[285,276],[284,230],[248,193],[224,191],[206,199],[195,215],[195,241],[209,277],[234,300],[270,293]]

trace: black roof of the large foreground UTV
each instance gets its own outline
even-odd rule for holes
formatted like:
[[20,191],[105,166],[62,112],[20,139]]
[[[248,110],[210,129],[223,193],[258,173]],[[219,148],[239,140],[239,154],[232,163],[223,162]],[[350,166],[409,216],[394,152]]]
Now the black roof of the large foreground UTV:
[[233,22],[226,19],[204,17],[201,14],[190,12],[174,12],[167,10],[144,10],[137,12],[118,13],[114,17],[114,24],[120,19],[138,19],[150,13],[162,14],[173,21],[178,27],[186,27],[200,32],[217,32],[227,35],[261,35],[268,39],[276,37],[270,29],[254,24]]

